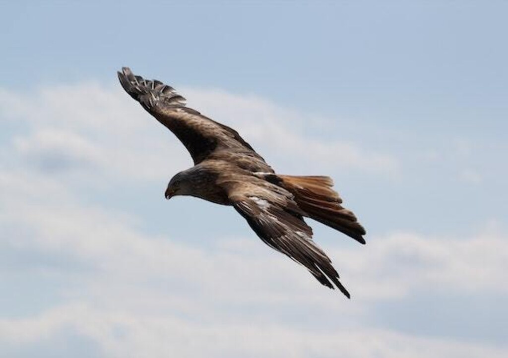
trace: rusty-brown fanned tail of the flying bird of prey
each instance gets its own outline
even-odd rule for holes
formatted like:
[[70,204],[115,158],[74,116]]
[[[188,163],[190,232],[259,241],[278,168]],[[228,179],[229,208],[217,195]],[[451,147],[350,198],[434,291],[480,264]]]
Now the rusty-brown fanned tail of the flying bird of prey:
[[353,212],[340,205],[342,199],[331,187],[333,181],[321,176],[277,175],[278,185],[295,196],[295,201],[308,216],[365,244],[365,229]]

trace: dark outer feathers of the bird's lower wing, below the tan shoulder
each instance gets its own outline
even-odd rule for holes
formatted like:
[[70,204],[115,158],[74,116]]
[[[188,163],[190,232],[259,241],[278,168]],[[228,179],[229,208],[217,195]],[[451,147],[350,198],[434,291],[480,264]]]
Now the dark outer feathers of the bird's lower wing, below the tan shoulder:
[[[261,240],[305,266],[323,285],[334,288],[333,282],[350,298],[349,292],[339,282],[339,274],[330,258],[312,241],[312,229],[298,212],[260,196],[230,198],[234,208]],[[295,203],[291,204],[297,208]]]

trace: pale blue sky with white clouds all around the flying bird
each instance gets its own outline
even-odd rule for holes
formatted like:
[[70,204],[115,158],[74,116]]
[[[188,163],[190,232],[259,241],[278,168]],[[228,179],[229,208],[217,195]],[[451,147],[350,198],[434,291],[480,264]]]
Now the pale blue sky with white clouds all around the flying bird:
[[[1,2],[0,356],[508,355],[508,4]],[[281,174],[329,175],[367,245],[308,220],[351,292],[232,208],[129,66]]]

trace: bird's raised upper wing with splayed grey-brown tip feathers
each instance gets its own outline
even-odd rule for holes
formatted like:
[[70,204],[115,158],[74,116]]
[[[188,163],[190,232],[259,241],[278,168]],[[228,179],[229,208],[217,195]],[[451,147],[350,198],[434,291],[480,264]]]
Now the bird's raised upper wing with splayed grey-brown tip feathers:
[[[185,99],[171,86],[157,80],[135,76],[128,67],[118,72],[118,79],[127,93],[145,110],[173,132],[187,148],[194,164],[212,153],[228,151],[247,154],[261,167],[266,163],[234,129],[185,107]],[[265,168],[260,168],[265,169]]]

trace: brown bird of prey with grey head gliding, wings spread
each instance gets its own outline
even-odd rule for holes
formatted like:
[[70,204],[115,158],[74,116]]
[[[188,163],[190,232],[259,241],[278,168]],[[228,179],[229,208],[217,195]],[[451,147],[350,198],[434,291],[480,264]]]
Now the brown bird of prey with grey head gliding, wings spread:
[[277,174],[237,131],[186,107],[173,87],[136,76],[128,67],[117,74],[123,89],[176,135],[194,161],[171,178],[166,199],[193,196],[232,206],[265,244],[351,298],[304,221],[314,219],[365,244],[364,227],[341,205],[330,177]]

